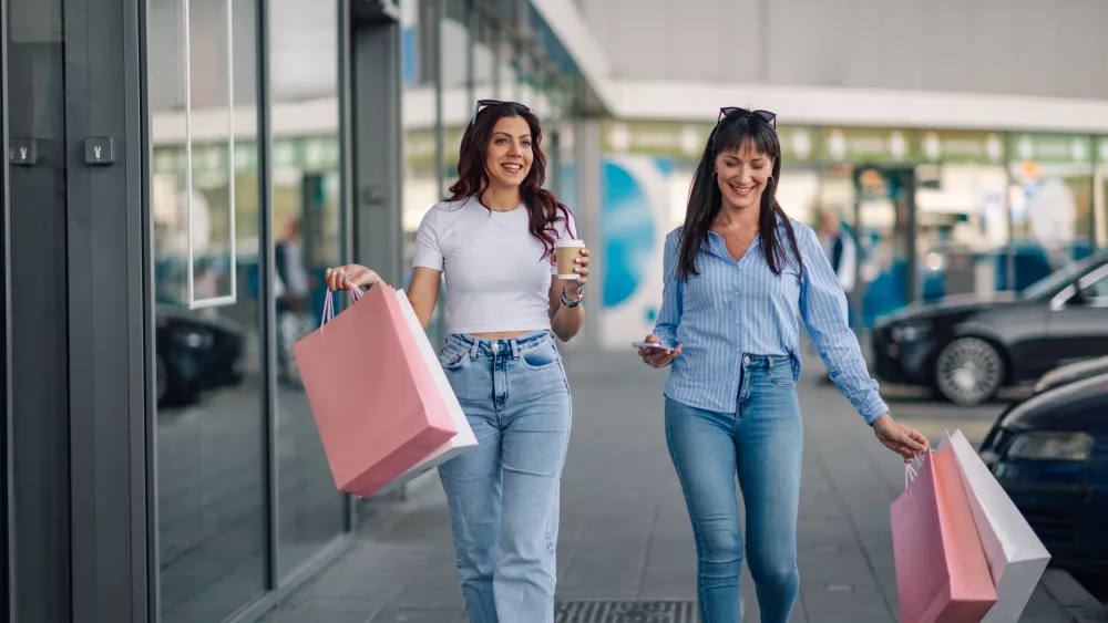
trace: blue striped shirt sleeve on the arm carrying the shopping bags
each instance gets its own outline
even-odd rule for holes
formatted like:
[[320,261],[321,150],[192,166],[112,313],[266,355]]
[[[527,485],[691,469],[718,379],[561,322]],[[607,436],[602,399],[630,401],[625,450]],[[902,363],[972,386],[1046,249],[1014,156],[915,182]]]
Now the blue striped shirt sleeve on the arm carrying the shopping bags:
[[800,287],[800,314],[820,359],[831,373],[831,381],[850,401],[866,424],[889,412],[881,399],[878,382],[870,377],[858,338],[847,315],[847,295],[820,248],[815,232],[798,225],[804,274]]

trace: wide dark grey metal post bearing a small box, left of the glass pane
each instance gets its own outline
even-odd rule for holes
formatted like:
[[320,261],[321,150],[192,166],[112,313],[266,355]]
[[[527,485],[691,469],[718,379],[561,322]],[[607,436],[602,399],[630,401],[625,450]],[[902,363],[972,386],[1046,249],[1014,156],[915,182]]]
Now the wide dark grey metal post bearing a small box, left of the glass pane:
[[[71,616],[150,619],[153,292],[144,230],[150,157],[145,13],[129,0],[64,0]],[[114,164],[84,162],[112,136]],[[120,552],[127,552],[120,555]]]

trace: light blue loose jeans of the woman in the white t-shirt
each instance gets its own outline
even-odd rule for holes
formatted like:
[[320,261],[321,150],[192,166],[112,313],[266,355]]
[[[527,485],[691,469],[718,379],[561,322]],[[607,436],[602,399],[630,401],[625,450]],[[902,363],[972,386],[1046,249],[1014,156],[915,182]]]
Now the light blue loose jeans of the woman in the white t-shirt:
[[439,363],[478,447],[439,467],[470,623],[552,623],[570,386],[548,331],[447,336]]

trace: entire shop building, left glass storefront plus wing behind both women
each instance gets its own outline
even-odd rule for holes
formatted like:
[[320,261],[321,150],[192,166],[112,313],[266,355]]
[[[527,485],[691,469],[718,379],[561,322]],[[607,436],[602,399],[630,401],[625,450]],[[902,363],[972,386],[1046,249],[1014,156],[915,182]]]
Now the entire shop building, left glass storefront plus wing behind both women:
[[544,122],[594,267],[571,347],[652,329],[728,105],[778,113],[786,210],[855,237],[864,330],[1108,246],[1106,10],[0,0],[3,611],[252,621],[350,546],[373,500],[335,491],[291,344],[328,267],[404,283],[475,101]]

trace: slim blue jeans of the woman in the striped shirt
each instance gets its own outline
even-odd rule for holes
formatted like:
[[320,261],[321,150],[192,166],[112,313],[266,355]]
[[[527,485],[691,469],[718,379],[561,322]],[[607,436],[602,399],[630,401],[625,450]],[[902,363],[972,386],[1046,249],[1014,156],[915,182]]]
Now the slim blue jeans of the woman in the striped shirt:
[[803,427],[793,360],[745,355],[735,413],[666,398],[666,443],[685,492],[697,550],[701,623],[740,620],[742,531],[763,623],[786,623],[800,588],[797,515]]

